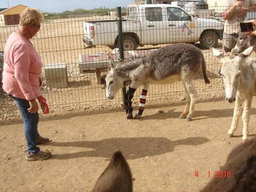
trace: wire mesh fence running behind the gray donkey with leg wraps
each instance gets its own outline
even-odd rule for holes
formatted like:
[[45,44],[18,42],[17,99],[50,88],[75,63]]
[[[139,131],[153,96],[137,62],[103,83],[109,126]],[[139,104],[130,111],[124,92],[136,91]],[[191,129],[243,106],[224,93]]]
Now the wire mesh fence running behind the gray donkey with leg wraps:
[[[218,17],[218,12],[223,9],[185,12],[168,4],[129,6],[122,10],[124,56],[144,56],[167,44],[194,44],[204,54],[211,80],[210,85],[205,85],[202,72],[198,73],[194,80],[196,90],[199,94],[220,92],[220,64],[208,48],[214,46],[222,51],[224,20]],[[8,36],[17,29],[18,25],[0,27],[0,51],[4,51]],[[122,102],[121,90],[114,100],[108,100],[104,84],[108,56],[119,59],[116,12],[45,16],[40,31],[31,42],[42,59],[42,94],[50,108],[108,108]],[[140,92],[137,90],[134,100],[139,98]],[[148,92],[148,100],[183,96],[181,82],[151,85]],[[1,94],[1,97],[4,96]],[[13,103],[2,98],[2,111],[12,110]]]

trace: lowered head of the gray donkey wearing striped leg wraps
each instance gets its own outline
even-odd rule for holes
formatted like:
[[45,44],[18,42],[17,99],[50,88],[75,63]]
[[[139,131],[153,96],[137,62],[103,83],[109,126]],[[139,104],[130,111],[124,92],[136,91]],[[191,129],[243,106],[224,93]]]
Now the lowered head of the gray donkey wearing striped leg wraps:
[[109,68],[106,76],[106,97],[113,99],[115,94],[123,86],[123,78],[116,72],[115,61],[109,57]]

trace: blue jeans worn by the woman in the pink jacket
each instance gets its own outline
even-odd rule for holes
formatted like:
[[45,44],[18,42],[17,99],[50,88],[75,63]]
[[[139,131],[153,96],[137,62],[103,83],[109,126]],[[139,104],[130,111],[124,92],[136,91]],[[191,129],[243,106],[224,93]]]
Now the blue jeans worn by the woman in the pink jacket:
[[28,108],[30,108],[28,100],[16,98],[12,95],[10,95],[10,97],[16,102],[21,112],[21,116],[24,122],[24,133],[25,133],[28,152],[30,153],[39,152],[40,148],[36,146],[36,140],[39,137],[39,133],[37,130],[37,124],[39,121],[38,112],[36,113],[28,112]]

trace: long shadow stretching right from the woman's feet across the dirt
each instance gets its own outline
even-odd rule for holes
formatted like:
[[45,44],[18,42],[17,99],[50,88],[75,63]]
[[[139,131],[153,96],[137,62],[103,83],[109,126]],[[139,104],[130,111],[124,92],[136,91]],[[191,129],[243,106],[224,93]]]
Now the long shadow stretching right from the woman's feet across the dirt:
[[209,140],[203,137],[191,137],[172,141],[165,137],[109,138],[99,141],[49,142],[45,146],[91,148],[76,153],[54,154],[52,159],[71,159],[81,157],[104,157],[110,160],[116,150],[120,150],[126,159],[138,159],[172,152],[178,145],[201,145]]

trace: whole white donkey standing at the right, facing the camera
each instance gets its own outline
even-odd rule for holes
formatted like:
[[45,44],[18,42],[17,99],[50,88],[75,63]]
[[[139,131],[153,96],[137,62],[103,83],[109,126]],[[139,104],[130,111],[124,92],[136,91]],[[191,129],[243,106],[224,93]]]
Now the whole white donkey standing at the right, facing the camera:
[[[249,58],[254,47],[250,46],[239,55],[234,55],[234,50],[230,55],[222,55],[215,48],[211,48],[212,53],[222,63],[220,75],[223,78],[226,100],[229,103],[236,101],[231,128],[228,131],[230,137],[238,125],[238,120],[242,114],[243,120],[243,140],[248,137],[248,123],[250,119],[250,108],[252,104],[252,97],[256,94],[255,80],[256,80],[256,60]],[[242,104],[244,103],[244,110],[242,112]]]

